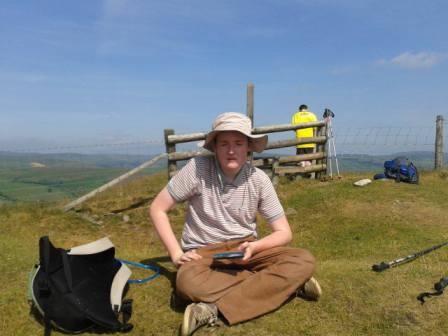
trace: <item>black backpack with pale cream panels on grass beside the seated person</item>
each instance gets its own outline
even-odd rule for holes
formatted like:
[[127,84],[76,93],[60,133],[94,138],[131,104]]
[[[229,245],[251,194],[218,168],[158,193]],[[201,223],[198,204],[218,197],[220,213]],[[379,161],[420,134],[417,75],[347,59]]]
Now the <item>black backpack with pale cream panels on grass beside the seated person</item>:
[[50,335],[51,327],[66,333],[132,329],[127,322],[132,302],[122,302],[131,271],[115,259],[108,238],[64,250],[45,236],[39,240],[39,254],[29,291],[33,307],[43,317],[45,335]]

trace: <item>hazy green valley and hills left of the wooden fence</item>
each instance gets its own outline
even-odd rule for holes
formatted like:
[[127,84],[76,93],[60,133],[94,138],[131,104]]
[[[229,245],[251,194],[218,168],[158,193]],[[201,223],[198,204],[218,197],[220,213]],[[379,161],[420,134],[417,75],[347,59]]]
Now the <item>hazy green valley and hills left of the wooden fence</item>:
[[[148,161],[124,154],[38,154],[0,152],[0,204],[74,199]],[[166,162],[146,168],[151,174]]]

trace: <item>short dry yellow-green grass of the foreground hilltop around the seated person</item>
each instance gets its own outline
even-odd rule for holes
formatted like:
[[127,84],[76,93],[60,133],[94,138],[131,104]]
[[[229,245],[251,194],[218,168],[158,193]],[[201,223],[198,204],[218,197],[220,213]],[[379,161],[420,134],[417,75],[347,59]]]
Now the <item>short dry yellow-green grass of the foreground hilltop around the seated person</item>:
[[[448,173],[423,172],[420,185],[374,181],[353,186],[364,177],[281,180],[277,188],[294,231],[291,245],[309,249],[318,260],[316,277],[324,291],[319,302],[294,298],[259,319],[203,328],[195,335],[446,335],[448,293],[424,305],[416,296],[448,276],[448,247],[383,273],[372,272],[371,266],[448,240]],[[159,278],[130,286],[131,334],[177,335],[183,311],[170,305],[176,269],[146,215],[146,204],[165,183],[165,174],[134,179],[78,209],[101,225],[63,213],[63,204],[1,206],[1,334],[43,334],[30,314],[27,283],[38,259],[38,239],[49,235],[64,248],[109,236],[118,257],[159,265]],[[171,212],[177,234],[183,215],[182,205]],[[259,224],[260,235],[265,235],[266,223]],[[143,275],[134,272],[135,277]]]

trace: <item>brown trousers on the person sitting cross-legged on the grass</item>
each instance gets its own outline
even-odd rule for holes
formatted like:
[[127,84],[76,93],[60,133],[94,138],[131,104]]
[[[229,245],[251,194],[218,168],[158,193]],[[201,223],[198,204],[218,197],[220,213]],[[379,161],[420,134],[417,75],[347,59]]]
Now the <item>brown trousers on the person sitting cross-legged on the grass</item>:
[[235,251],[239,239],[200,248],[201,260],[177,272],[177,294],[193,302],[213,302],[229,324],[250,320],[279,308],[313,274],[315,259],[299,248],[275,247],[250,260],[213,260],[215,253]]

